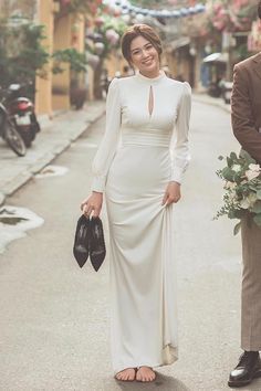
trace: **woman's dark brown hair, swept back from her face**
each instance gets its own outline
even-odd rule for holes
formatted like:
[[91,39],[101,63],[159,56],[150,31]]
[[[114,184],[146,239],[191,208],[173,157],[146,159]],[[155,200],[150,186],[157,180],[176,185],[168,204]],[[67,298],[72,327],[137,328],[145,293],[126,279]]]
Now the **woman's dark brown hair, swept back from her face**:
[[129,64],[132,63],[130,44],[137,36],[143,36],[149,41],[160,57],[160,54],[163,53],[163,45],[158,34],[147,24],[134,24],[127,29],[122,38],[123,56]]

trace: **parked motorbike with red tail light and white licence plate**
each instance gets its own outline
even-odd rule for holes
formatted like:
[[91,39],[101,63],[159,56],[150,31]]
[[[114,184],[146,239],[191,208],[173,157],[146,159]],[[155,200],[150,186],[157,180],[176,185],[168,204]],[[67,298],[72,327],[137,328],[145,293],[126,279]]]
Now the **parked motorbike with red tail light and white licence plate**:
[[21,135],[27,147],[30,147],[40,131],[40,125],[34,113],[33,103],[22,96],[24,85],[11,84],[6,98],[7,107],[15,129]]

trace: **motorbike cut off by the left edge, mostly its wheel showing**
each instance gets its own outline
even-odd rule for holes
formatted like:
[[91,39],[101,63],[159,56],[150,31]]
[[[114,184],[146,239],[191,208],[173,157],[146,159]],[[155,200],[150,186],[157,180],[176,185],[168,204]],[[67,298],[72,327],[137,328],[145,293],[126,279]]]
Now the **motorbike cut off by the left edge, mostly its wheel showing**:
[[[1,89],[0,89],[1,93]],[[27,147],[15,126],[10,118],[9,112],[4,105],[4,97],[0,99],[0,136],[7,141],[9,147],[18,155],[24,156]]]

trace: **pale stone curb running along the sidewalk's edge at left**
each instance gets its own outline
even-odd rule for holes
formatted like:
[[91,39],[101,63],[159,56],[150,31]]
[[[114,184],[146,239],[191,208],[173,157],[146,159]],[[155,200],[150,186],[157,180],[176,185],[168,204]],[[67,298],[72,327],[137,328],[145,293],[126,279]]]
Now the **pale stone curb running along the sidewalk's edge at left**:
[[[40,156],[28,169],[17,175],[8,183],[3,186],[0,191],[0,207],[4,204],[6,199],[12,196],[22,186],[29,182],[35,173],[40,172],[45,166],[48,166],[52,160],[54,160],[59,155],[65,151],[73,141],[75,141],[88,127],[98,120],[105,113],[105,107],[101,108],[96,115],[91,114],[91,119],[85,119],[84,124],[77,126],[73,129],[66,139],[61,139],[59,144],[53,145],[48,154]],[[51,125],[52,126],[52,125]],[[43,129],[44,131],[44,129]]]

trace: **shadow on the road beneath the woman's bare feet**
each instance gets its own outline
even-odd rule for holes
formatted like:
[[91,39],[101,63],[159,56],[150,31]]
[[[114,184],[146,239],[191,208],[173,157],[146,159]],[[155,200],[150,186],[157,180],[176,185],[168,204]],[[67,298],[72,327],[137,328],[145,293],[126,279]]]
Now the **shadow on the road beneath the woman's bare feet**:
[[157,372],[157,379],[153,383],[119,382],[118,389],[124,391],[160,390],[160,391],[190,391],[181,381]]

